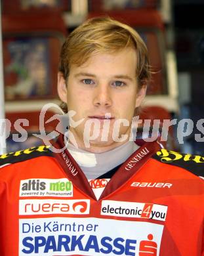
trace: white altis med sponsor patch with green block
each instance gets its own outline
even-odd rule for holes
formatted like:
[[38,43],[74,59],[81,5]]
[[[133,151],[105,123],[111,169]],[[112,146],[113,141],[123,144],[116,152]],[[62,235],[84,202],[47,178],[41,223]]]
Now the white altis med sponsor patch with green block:
[[71,181],[63,179],[28,179],[20,181],[19,196],[73,196]]

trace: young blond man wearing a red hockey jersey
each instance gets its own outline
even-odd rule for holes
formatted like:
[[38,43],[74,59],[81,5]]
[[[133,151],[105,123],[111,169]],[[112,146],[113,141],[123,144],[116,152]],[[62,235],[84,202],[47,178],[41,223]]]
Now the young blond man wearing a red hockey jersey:
[[204,158],[131,139],[149,78],[129,26],[70,34],[58,94],[72,142],[0,157],[0,255],[204,255]]

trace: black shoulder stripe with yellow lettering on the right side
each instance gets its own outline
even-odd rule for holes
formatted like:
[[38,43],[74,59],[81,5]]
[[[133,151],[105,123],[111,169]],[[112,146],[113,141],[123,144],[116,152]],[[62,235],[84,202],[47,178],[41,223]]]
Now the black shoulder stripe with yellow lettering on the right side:
[[204,178],[203,156],[182,154],[162,148],[160,151],[156,152],[156,154],[153,156],[153,159],[161,161],[161,163],[167,163],[169,165],[182,167],[183,169],[186,169],[191,173],[194,173],[194,175]]

